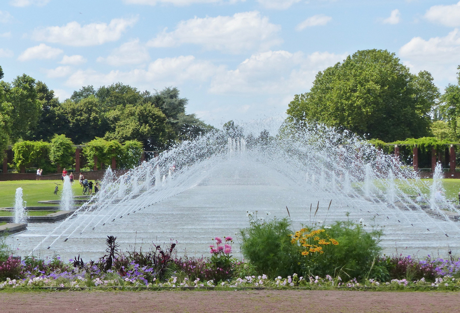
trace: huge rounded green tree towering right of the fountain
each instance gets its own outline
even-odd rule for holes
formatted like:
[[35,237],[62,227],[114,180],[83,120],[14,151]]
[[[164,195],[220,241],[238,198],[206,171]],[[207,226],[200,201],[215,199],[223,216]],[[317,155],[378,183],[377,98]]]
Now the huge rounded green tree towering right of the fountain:
[[288,116],[392,142],[430,133],[439,91],[431,74],[410,74],[394,53],[362,50],[316,74],[309,92],[295,95]]

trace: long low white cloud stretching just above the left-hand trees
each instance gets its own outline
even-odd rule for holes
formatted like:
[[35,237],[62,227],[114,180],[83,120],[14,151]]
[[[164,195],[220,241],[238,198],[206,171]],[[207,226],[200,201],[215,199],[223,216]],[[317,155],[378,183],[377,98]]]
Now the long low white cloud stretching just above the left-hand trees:
[[117,81],[151,88],[179,85],[184,81],[200,83],[208,80],[215,72],[215,66],[207,61],[198,61],[194,56],[166,57],[151,62],[147,69],[133,69],[128,72],[114,70],[108,74],[92,69],[78,70],[66,82],[70,87],[83,85],[109,85]]

